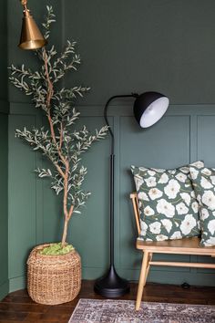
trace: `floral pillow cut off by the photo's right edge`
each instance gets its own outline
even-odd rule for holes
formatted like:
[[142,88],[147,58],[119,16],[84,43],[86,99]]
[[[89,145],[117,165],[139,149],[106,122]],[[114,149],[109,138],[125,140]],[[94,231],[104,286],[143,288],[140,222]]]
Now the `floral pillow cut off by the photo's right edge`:
[[190,166],[189,172],[200,203],[201,245],[215,245],[215,169]]

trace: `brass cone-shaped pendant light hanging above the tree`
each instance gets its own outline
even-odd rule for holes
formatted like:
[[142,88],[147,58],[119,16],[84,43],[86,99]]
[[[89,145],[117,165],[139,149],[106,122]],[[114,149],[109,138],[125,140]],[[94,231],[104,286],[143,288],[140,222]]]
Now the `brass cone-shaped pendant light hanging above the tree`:
[[39,31],[33,16],[31,16],[30,11],[26,7],[27,0],[21,0],[21,3],[24,6],[24,17],[18,47],[22,49],[37,49],[44,47],[46,45],[46,39]]

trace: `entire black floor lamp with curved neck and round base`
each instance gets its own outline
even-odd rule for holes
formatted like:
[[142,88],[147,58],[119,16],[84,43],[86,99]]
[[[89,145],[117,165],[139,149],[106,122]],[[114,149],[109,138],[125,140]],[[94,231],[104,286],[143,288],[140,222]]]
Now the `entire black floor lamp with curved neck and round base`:
[[107,120],[107,108],[112,99],[135,98],[134,116],[141,128],[148,128],[164,115],[169,107],[169,99],[158,92],[146,92],[141,95],[128,94],[116,95],[107,100],[104,109],[104,118],[111,136],[110,153],[110,187],[109,187],[109,218],[110,218],[110,255],[107,274],[98,278],[95,283],[95,291],[103,297],[121,297],[129,291],[129,284],[126,279],[118,276],[114,266],[114,133]]

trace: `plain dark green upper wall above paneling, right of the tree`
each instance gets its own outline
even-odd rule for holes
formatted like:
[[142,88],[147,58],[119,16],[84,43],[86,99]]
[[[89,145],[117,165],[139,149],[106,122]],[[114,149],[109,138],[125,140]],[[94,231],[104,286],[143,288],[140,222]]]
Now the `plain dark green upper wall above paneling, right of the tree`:
[[214,0],[63,1],[92,87],[87,104],[115,93],[160,90],[171,103],[215,102]]

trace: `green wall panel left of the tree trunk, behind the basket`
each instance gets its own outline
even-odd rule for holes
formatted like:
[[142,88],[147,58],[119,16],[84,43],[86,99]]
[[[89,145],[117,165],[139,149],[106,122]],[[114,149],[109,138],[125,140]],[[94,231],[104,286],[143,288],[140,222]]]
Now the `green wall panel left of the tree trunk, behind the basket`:
[[36,125],[32,115],[9,117],[9,278],[23,276],[26,256],[36,245],[36,153],[15,129]]

